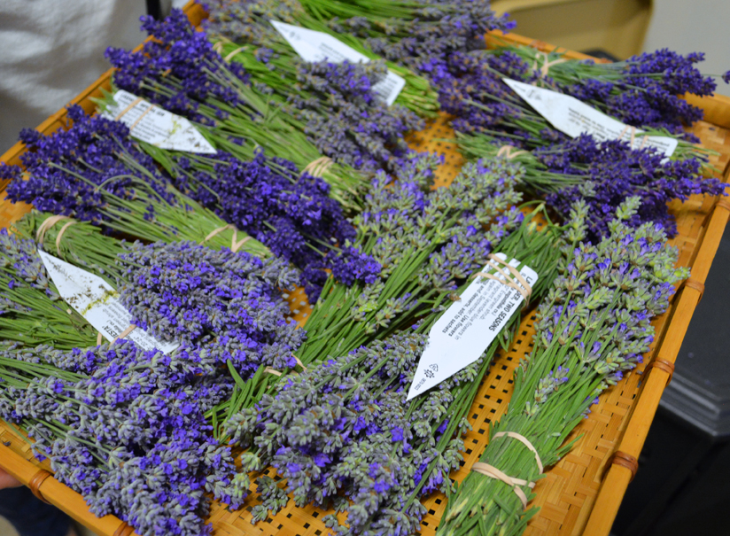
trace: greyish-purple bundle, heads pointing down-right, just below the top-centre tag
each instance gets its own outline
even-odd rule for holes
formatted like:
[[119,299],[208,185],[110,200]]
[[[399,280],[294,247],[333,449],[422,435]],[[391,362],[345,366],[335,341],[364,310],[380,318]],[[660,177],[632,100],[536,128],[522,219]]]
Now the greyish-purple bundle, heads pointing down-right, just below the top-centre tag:
[[243,65],[269,103],[301,121],[307,139],[335,162],[366,172],[392,169],[408,150],[404,136],[424,127],[405,106],[377,99],[373,86],[387,74],[382,62],[306,62],[228,40],[214,47]]

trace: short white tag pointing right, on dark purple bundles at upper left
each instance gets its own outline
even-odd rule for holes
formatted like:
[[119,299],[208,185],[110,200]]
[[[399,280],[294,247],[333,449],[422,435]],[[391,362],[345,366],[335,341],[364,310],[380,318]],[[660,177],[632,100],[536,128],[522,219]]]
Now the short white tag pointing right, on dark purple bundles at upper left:
[[121,121],[129,127],[132,137],[160,149],[203,154],[217,152],[189,120],[144,99],[132,105],[136,100],[136,95],[120,89],[114,93],[116,104],[108,105],[101,114],[106,119]]

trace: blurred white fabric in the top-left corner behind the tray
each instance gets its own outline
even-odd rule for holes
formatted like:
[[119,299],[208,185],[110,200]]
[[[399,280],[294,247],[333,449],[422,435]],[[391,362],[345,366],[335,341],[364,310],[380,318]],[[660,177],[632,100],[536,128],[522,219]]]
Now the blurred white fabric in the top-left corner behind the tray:
[[0,153],[141,43],[144,0],[0,0]]

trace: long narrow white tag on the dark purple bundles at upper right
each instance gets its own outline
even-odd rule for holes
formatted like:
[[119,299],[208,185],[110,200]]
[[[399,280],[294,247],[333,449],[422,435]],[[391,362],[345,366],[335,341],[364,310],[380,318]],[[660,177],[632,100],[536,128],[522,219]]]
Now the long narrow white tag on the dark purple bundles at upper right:
[[509,78],[502,80],[522,97],[537,113],[547,119],[553,127],[568,136],[577,137],[590,134],[596,140],[615,140],[620,138],[631,143],[632,149],[653,147],[669,158],[679,141],[668,136],[641,136],[643,130],[625,125],[619,120],[599,112],[593,106],[579,101],[576,97],[563,95],[551,89],[538,88],[532,84],[517,82]]

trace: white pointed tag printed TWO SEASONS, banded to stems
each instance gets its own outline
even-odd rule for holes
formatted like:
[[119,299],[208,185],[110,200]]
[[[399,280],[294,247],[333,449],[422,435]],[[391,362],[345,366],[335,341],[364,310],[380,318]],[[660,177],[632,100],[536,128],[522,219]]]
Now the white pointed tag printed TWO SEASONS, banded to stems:
[[[504,253],[496,256],[507,259]],[[516,268],[519,260],[510,260],[509,265]],[[485,272],[490,268],[485,267]],[[537,273],[527,266],[520,269],[520,274],[530,286],[538,280]],[[503,276],[496,276],[504,280]],[[522,294],[506,284],[485,277],[475,278],[462,292],[461,300],[454,301],[431,326],[428,345],[418,361],[406,400],[477,361],[523,301]]]

